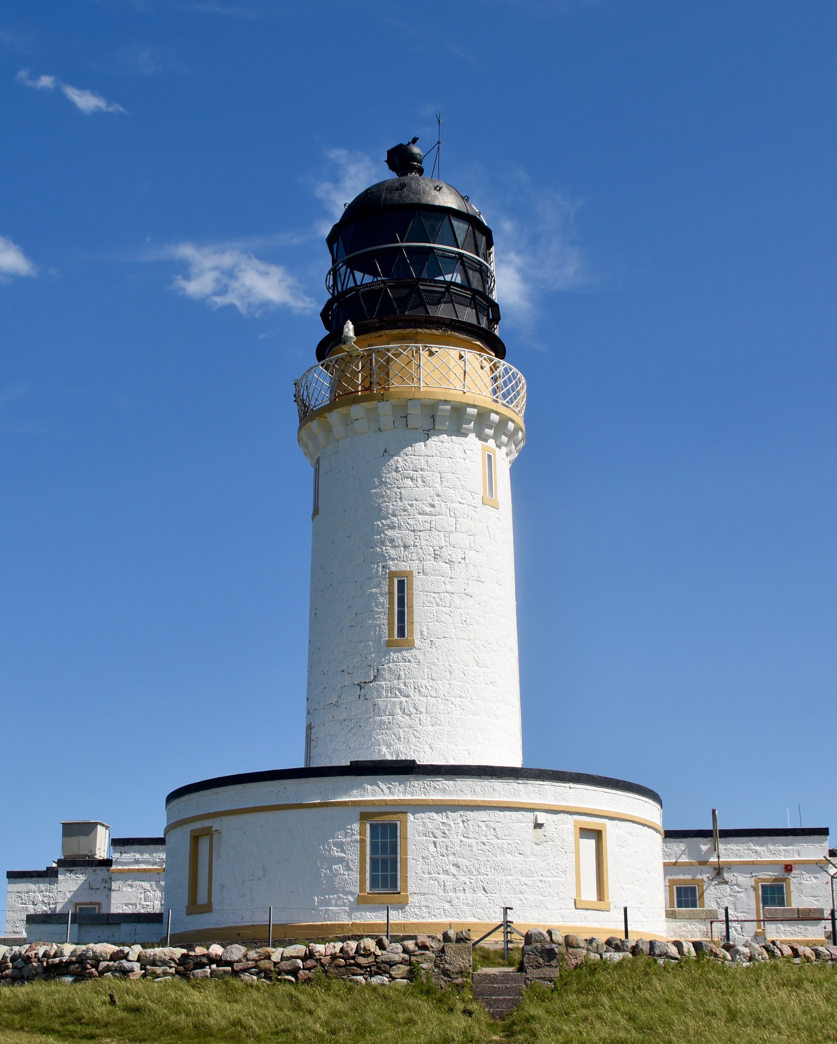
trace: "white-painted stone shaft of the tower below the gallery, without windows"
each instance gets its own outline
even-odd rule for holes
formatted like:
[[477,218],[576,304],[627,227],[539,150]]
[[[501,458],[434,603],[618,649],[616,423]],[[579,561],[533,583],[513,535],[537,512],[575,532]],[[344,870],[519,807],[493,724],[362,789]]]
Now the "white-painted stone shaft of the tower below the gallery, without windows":
[[[391,407],[388,428],[379,405]],[[410,414],[411,405],[353,407],[363,417],[343,425],[351,431],[343,437],[334,436],[340,425],[332,422],[349,411],[314,422],[329,437],[317,444],[319,513],[312,520],[311,764],[413,758],[520,765],[515,431],[496,453],[494,507],[482,502],[482,446],[495,446],[498,414],[486,411],[475,425],[465,420],[468,407],[454,406],[439,430],[438,403],[415,403],[421,412]],[[492,437],[480,437],[486,431]],[[386,644],[389,570],[414,574],[414,648]]]

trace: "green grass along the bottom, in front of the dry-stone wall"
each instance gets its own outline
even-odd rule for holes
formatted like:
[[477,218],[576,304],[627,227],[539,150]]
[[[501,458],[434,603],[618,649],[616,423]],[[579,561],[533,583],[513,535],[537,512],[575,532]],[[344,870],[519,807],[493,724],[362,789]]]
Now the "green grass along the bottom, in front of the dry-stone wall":
[[[502,954],[501,954],[502,956]],[[837,974],[773,962],[659,966],[633,958],[531,987],[505,1022],[468,990],[426,984],[254,987],[236,981],[42,982],[0,990],[0,1044],[764,1044],[837,1042]]]

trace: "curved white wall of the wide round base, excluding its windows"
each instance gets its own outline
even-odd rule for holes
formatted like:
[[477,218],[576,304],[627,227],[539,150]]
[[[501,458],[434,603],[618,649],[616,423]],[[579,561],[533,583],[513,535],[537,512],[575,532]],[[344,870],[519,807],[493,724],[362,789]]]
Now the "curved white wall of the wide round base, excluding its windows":
[[[380,926],[392,900],[358,902],[360,813],[404,811],[409,902],[391,907],[393,930],[441,930],[449,923],[485,930],[508,905],[519,925],[621,934],[627,905],[636,933],[665,932],[656,801],[592,782],[454,773],[231,782],[174,798],[166,834],[169,865],[176,868],[167,894],[172,930],[181,939],[235,939],[236,930],[254,938],[252,926],[265,930],[268,906],[277,934]],[[577,821],[605,830],[609,910],[576,907]],[[214,841],[212,910],[189,916],[189,836],[207,826]]]

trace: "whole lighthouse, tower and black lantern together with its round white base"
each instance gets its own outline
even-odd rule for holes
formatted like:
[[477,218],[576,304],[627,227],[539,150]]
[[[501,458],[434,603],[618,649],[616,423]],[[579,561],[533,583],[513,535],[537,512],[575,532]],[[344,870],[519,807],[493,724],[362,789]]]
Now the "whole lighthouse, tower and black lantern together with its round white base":
[[167,799],[180,941],[516,923],[665,935],[662,807],[522,767],[509,468],[526,385],[482,215],[414,145],[328,237],[296,382],[313,470],[305,766]]

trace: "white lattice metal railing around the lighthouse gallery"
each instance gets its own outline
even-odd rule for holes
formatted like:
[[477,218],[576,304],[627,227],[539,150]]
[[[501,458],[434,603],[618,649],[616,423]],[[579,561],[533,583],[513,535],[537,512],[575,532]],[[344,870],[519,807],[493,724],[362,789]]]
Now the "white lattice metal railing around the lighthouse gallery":
[[351,396],[414,390],[418,398],[445,394],[489,399],[523,420],[526,381],[503,359],[446,345],[383,345],[341,352],[307,370],[294,381],[300,423],[314,410]]

